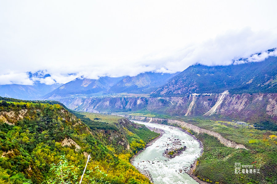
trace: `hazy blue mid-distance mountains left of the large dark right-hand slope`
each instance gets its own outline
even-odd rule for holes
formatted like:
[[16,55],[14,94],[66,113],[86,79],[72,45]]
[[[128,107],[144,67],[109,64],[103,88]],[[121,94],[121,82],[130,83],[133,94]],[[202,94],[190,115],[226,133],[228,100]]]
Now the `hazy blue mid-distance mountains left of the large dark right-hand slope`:
[[58,89],[46,94],[42,99],[68,98],[72,95],[105,95],[118,93],[148,94],[163,86],[179,74],[145,72],[133,77],[100,77],[99,79],[76,78]]

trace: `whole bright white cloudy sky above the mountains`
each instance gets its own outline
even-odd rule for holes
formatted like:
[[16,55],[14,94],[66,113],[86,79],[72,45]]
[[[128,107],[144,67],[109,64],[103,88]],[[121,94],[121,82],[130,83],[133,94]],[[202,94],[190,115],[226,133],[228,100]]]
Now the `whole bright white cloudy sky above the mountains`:
[[277,56],[265,52],[277,47],[276,8],[276,0],[0,0],[0,85],[261,61]]

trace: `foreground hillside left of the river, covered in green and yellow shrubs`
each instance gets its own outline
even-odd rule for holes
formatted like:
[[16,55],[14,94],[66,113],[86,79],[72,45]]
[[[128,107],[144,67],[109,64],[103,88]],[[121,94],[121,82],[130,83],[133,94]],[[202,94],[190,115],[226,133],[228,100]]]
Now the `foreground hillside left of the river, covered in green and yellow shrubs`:
[[0,98],[0,183],[42,183],[61,155],[81,174],[89,153],[87,169],[98,165],[110,183],[150,183],[129,159],[157,133],[117,116],[75,115],[58,102]]

